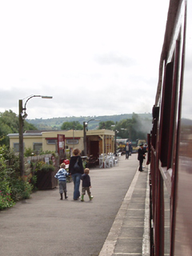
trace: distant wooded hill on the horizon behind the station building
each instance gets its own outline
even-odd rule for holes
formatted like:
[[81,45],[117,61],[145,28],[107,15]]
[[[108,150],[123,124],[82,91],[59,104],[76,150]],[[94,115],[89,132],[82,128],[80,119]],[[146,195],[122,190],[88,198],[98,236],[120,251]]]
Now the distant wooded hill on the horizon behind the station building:
[[[81,124],[83,122],[87,122],[90,119],[97,119],[100,120],[99,122],[106,122],[106,121],[114,121],[119,122],[122,119],[130,119],[132,118],[133,114],[114,114],[114,115],[104,115],[104,116],[88,116],[88,117],[65,117],[65,118],[35,118],[35,119],[26,119],[27,122],[33,124],[38,128],[38,130],[61,130],[61,126],[63,122],[73,122],[78,121]],[[141,118],[152,118],[151,113],[145,114],[138,114]],[[89,122],[89,129],[94,130],[97,129],[98,121],[91,121]]]

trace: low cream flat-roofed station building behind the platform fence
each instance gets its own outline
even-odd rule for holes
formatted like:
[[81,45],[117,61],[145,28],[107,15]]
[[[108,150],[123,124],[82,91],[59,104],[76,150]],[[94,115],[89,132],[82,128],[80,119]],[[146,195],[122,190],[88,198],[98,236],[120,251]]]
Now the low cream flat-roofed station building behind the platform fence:
[[[24,148],[34,151],[58,152],[58,135],[65,136],[65,149],[84,150],[83,130],[29,130],[23,134]],[[19,151],[19,134],[8,134],[10,148]],[[87,130],[86,153],[98,158],[100,154],[114,153],[115,134],[113,130]]]

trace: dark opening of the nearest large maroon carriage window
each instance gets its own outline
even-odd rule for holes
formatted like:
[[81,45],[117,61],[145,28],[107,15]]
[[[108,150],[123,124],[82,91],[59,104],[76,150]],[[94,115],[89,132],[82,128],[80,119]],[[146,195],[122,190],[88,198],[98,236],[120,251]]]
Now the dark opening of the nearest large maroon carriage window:
[[162,167],[172,168],[174,157],[175,122],[178,114],[178,62],[179,46],[177,41],[173,60],[166,65],[166,78],[162,93],[162,129],[160,160]]

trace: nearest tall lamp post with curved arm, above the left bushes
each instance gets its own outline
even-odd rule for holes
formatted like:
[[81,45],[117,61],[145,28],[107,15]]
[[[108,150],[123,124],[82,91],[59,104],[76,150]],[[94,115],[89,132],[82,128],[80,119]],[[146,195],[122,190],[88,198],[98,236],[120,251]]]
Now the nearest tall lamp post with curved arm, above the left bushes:
[[[30,98],[33,98],[33,97],[53,98],[52,96],[31,95],[27,98],[26,102],[28,102]],[[22,99],[20,99],[18,101],[18,124],[19,124],[19,169],[20,169],[21,177],[24,175],[23,125],[26,117],[27,117],[26,103],[24,107],[22,107]]]

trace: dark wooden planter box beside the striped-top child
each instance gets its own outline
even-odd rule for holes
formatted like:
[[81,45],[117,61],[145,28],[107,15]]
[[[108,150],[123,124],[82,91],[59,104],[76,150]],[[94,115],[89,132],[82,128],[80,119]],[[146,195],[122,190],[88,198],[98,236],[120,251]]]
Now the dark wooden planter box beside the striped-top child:
[[52,190],[54,187],[58,186],[58,179],[54,178],[57,174],[57,170],[49,171],[38,171],[37,173],[37,187],[38,190]]

